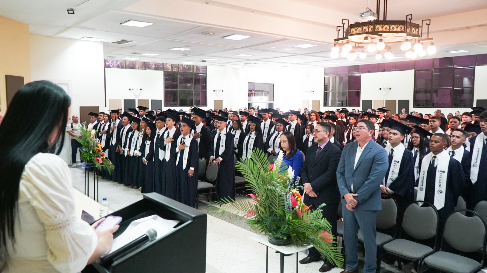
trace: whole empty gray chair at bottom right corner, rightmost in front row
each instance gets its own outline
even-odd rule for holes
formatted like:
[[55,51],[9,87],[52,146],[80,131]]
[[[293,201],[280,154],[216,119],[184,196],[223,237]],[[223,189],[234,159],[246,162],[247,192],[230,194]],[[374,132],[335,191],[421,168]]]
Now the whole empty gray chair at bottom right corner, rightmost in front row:
[[[472,216],[465,216],[464,214],[467,211],[472,213]],[[423,260],[423,263],[429,268],[448,273],[475,273],[482,268],[486,250],[487,224],[474,211],[464,209],[464,214],[461,212],[454,211],[448,216],[447,221],[445,221],[443,239],[451,247],[462,253],[471,253],[482,249],[481,261],[478,262],[466,256],[453,254],[440,249],[440,251],[427,256]],[[441,244],[443,247],[443,240]]]

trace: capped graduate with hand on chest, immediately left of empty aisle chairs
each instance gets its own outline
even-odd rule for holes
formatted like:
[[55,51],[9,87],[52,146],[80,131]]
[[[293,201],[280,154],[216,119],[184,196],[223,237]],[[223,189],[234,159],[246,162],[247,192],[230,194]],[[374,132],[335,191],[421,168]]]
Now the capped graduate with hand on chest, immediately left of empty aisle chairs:
[[181,122],[181,135],[177,138],[179,143],[176,149],[177,166],[177,201],[194,207],[198,191],[198,141],[191,136],[191,130],[196,129],[193,120],[183,117]]

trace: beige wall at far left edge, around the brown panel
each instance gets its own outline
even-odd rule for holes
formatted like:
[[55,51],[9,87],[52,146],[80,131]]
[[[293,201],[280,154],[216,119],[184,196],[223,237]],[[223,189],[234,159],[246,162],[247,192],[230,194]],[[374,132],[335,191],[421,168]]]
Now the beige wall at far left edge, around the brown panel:
[[29,25],[0,17],[0,104],[7,109],[5,75],[24,77],[31,81]]

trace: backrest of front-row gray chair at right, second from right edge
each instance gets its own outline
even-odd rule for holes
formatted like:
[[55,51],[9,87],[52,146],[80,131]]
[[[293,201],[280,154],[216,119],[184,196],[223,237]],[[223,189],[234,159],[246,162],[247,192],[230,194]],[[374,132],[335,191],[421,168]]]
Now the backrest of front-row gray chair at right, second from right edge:
[[[420,206],[418,203],[422,203]],[[438,211],[428,202],[415,201],[404,211],[402,228],[415,239],[426,240],[438,232]]]

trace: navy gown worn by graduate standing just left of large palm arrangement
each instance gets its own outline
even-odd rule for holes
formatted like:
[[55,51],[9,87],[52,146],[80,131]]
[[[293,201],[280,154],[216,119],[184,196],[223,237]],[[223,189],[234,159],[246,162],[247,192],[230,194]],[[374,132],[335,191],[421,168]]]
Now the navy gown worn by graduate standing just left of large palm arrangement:
[[[218,131],[218,130],[216,130]],[[261,136],[262,137],[262,136]],[[214,139],[216,138],[216,147]],[[227,134],[225,137],[225,150],[220,154],[220,141],[221,136],[215,134],[215,138],[212,139],[213,145],[210,149],[210,157],[213,156],[215,159],[222,157],[220,162],[220,168],[218,169],[218,182],[216,185],[216,190],[218,192],[219,200],[223,198],[235,199],[235,161],[233,160],[233,135]],[[256,139],[257,142],[257,139]],[[215,149],[215,154],[213,154],[213,149]],[[215,164],[214,162],[212,164]],[[216,197],[213,198],[216,200]],[[218,200],[217,200],[218,201]]]

